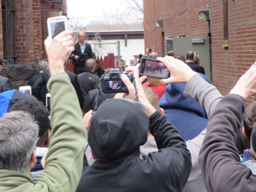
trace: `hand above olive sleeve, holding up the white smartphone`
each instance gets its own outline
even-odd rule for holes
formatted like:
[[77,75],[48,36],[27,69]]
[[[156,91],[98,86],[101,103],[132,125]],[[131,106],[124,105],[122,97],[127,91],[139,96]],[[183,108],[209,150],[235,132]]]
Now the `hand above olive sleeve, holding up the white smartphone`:
[[69,55],[75,50],[72,34],[72,31],[63,31],[52,41],[50,37],[47,37],[44,41],[51,76],[56,73],[65,72],[65,61],[68,60]]

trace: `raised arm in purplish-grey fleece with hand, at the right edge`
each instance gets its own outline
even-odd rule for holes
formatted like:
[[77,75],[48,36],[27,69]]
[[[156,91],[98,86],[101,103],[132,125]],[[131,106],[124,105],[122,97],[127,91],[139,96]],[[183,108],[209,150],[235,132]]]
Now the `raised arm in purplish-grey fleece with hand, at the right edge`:
[[241,127],[245,98],[256,93],[256,66],[216,106],[199,154],[208,191],[255,191],[256,177],[240,163],[236,138]]

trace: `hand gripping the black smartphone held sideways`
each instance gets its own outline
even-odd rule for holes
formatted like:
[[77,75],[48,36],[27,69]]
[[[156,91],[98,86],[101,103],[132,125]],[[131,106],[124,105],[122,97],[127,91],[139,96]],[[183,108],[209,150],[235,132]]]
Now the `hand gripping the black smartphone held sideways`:
[[161,80],[164,84],[179,82],[187,83],[196,74],[196,72],[194,72],[187,64],[174,57],[165,56],[164,58],[158,57],[157,59],[163,62],[171,73],[171,77]]

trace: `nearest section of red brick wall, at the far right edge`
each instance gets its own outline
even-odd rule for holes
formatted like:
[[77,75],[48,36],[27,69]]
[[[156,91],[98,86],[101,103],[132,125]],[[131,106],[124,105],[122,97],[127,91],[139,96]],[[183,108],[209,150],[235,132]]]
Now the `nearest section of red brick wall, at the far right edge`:
[[[228,94],[237,80],[256,60],[256,2],[229,1],[229,48],[222,47],[223,4],[218,1],[211,10],[213,84]],[[217,16],[220,15],[220,16]],[[253,98],[247,102],[250,103]]]

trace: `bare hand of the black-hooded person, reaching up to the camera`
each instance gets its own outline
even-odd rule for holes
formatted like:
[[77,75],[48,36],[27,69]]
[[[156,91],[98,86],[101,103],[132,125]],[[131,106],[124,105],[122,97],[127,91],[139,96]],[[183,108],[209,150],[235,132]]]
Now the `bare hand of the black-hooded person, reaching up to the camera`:
[[[143,76],[143,77],[139,78],[139,70],[137,69],[136,66],[130,66],[130,67],[126,68],[126,72],[128,72],[128,73],[133,72],[134,81],[135,81],[135,84],[136,84],[136,87],[138,90],[137,94],[138,94],[139,102],[141,102],[146,107],[147,116],[152,115],[156,110],[148,101],[146,94],[144,93],[143,86],[141,84],[141,81],[144,81],[146,79],[146,77]],[[127,89],[129,90],[129,97],[131,99],[133,99],[134,101],[137,101],[136,100],[136,90],[135,90],[134,85],[131,83],[131,81],[125,74],[122,74],[121,78],[122,78],[123,83],[126,85]]]

